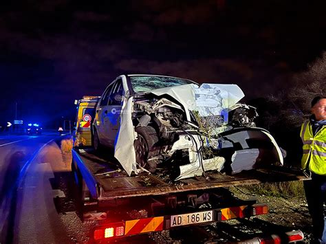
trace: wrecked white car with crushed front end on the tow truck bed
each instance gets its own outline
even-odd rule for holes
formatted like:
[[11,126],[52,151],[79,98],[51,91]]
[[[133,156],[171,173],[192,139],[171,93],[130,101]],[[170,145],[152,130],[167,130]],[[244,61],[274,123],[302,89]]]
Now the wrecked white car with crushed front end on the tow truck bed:
[[96,107],[94,148],[113,148],[129,175],[167,169],[176,180],[283,165],[272,135],[254,125],[256,109],[238,103],[243,96],[237,85],[118,76]]

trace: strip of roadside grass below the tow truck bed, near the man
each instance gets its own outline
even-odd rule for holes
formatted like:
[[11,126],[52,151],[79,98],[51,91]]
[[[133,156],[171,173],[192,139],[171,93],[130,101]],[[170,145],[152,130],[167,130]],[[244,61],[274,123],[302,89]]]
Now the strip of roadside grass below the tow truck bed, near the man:
[[250,186],[243,186],[249,192],[258,195],[283,197],[304,197],[303,181],[287,181],[278,183],[264,183]]

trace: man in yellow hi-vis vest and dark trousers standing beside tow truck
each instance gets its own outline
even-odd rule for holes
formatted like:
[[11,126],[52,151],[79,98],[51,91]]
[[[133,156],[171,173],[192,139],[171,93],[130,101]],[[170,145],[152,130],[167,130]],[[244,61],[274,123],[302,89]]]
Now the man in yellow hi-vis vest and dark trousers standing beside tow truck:
[[[305,197],[312,217],[316,243],[326,243],[326,96],[312,100],[312,116],[301,126],[303,157],[301,167],[312,179],[304,181]],[[324,233],[325,232],[325,233]]]

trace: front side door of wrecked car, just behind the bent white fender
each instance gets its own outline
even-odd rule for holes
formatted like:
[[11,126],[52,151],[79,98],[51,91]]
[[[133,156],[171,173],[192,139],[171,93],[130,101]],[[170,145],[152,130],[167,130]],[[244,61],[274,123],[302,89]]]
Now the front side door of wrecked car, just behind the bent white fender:
[[120,129],[120,115],[123,96],[124,88],[122,85],[122,79],[118,78],[111,89],[107,106],[108,120],[105,120],[105,134],[108,138],[109,146],[112,148],[115,146],[116,137],[118,136],[118,131]]

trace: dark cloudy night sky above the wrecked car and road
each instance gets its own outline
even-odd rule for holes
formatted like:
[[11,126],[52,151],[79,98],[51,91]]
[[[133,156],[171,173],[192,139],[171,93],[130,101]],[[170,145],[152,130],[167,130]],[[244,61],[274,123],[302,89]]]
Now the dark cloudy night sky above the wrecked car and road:
[[326,49],[325,1],[4,1],[1,123],[57,126],[120,74],[286,91]]

